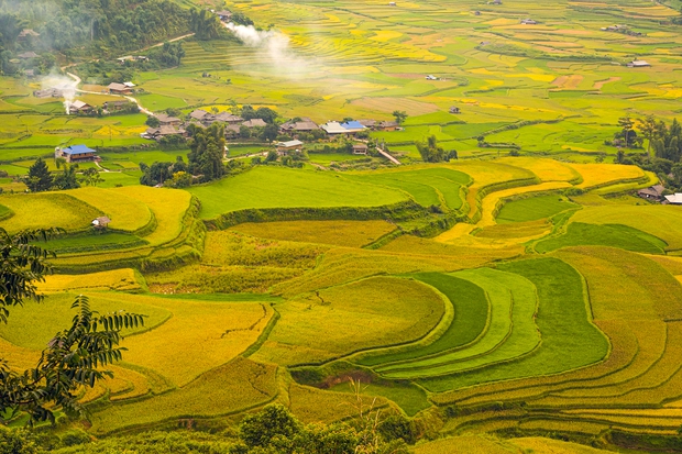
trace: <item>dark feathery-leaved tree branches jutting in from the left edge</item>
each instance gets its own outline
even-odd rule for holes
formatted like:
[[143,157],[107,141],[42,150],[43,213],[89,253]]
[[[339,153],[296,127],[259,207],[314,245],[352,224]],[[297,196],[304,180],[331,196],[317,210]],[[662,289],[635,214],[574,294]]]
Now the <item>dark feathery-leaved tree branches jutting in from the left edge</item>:
[[[35,283],[51,273],[46,261],[55,254],[35,243],[58,233],[9,234],[0,229],[0,323],[8,322],[10,308],[25,300],[42,301]],[[99,315],[85,296],[77,297],[72,309],[76,310],[72,325],[54,335],[34,368],[20,373],[0,358],[0,422],[20,413],[28,413],[31,422],[54,422],[57,410],[81,414],[78,391],[112,376],[102,367],[121,359],[121,330],[144,323],[142,315],[122,311]]]

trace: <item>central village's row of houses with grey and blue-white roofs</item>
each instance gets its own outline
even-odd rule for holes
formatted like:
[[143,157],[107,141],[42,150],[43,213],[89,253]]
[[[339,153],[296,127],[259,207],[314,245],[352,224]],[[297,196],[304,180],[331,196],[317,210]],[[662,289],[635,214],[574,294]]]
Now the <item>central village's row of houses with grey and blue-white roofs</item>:
[[[242,128],[258,129],[265,128],[267,123],[263,119],[244,120],[239,115],[234,115],[230,112],[211,113],[202,109],[194,110],[187,117],[187,121],[183,121],[176,117],[169,117],[164,113],[156,115],[158,120],[157,128],[150,128],[143,134],[142,137],[160,141],[168,135],[186,135],[184,125],[186,123],[196,123],[201,126],[208,128],[213,123],[220,123],[224,125],[226,139],[237,139]],[[299,139],[300,134],[311,134],[316,131],[323,131],[328,136],[346,135],[352,136],[364,131],[396,131],[400,126],[395,121],[375,121],[375,120],[358,120],[358,121],[329,121],[323,124],[317,124],[309,118],[300,118],[292,121],[287,121],[279,125],[279,134],[288,135],[294,139]],[[298,141],[292,141],[298,142]],[[283,145],[284,146],[284,145]],[[288,148],[295,150],[300,144],[289,144]],[[365,152],[366,153],[366,152]]]

